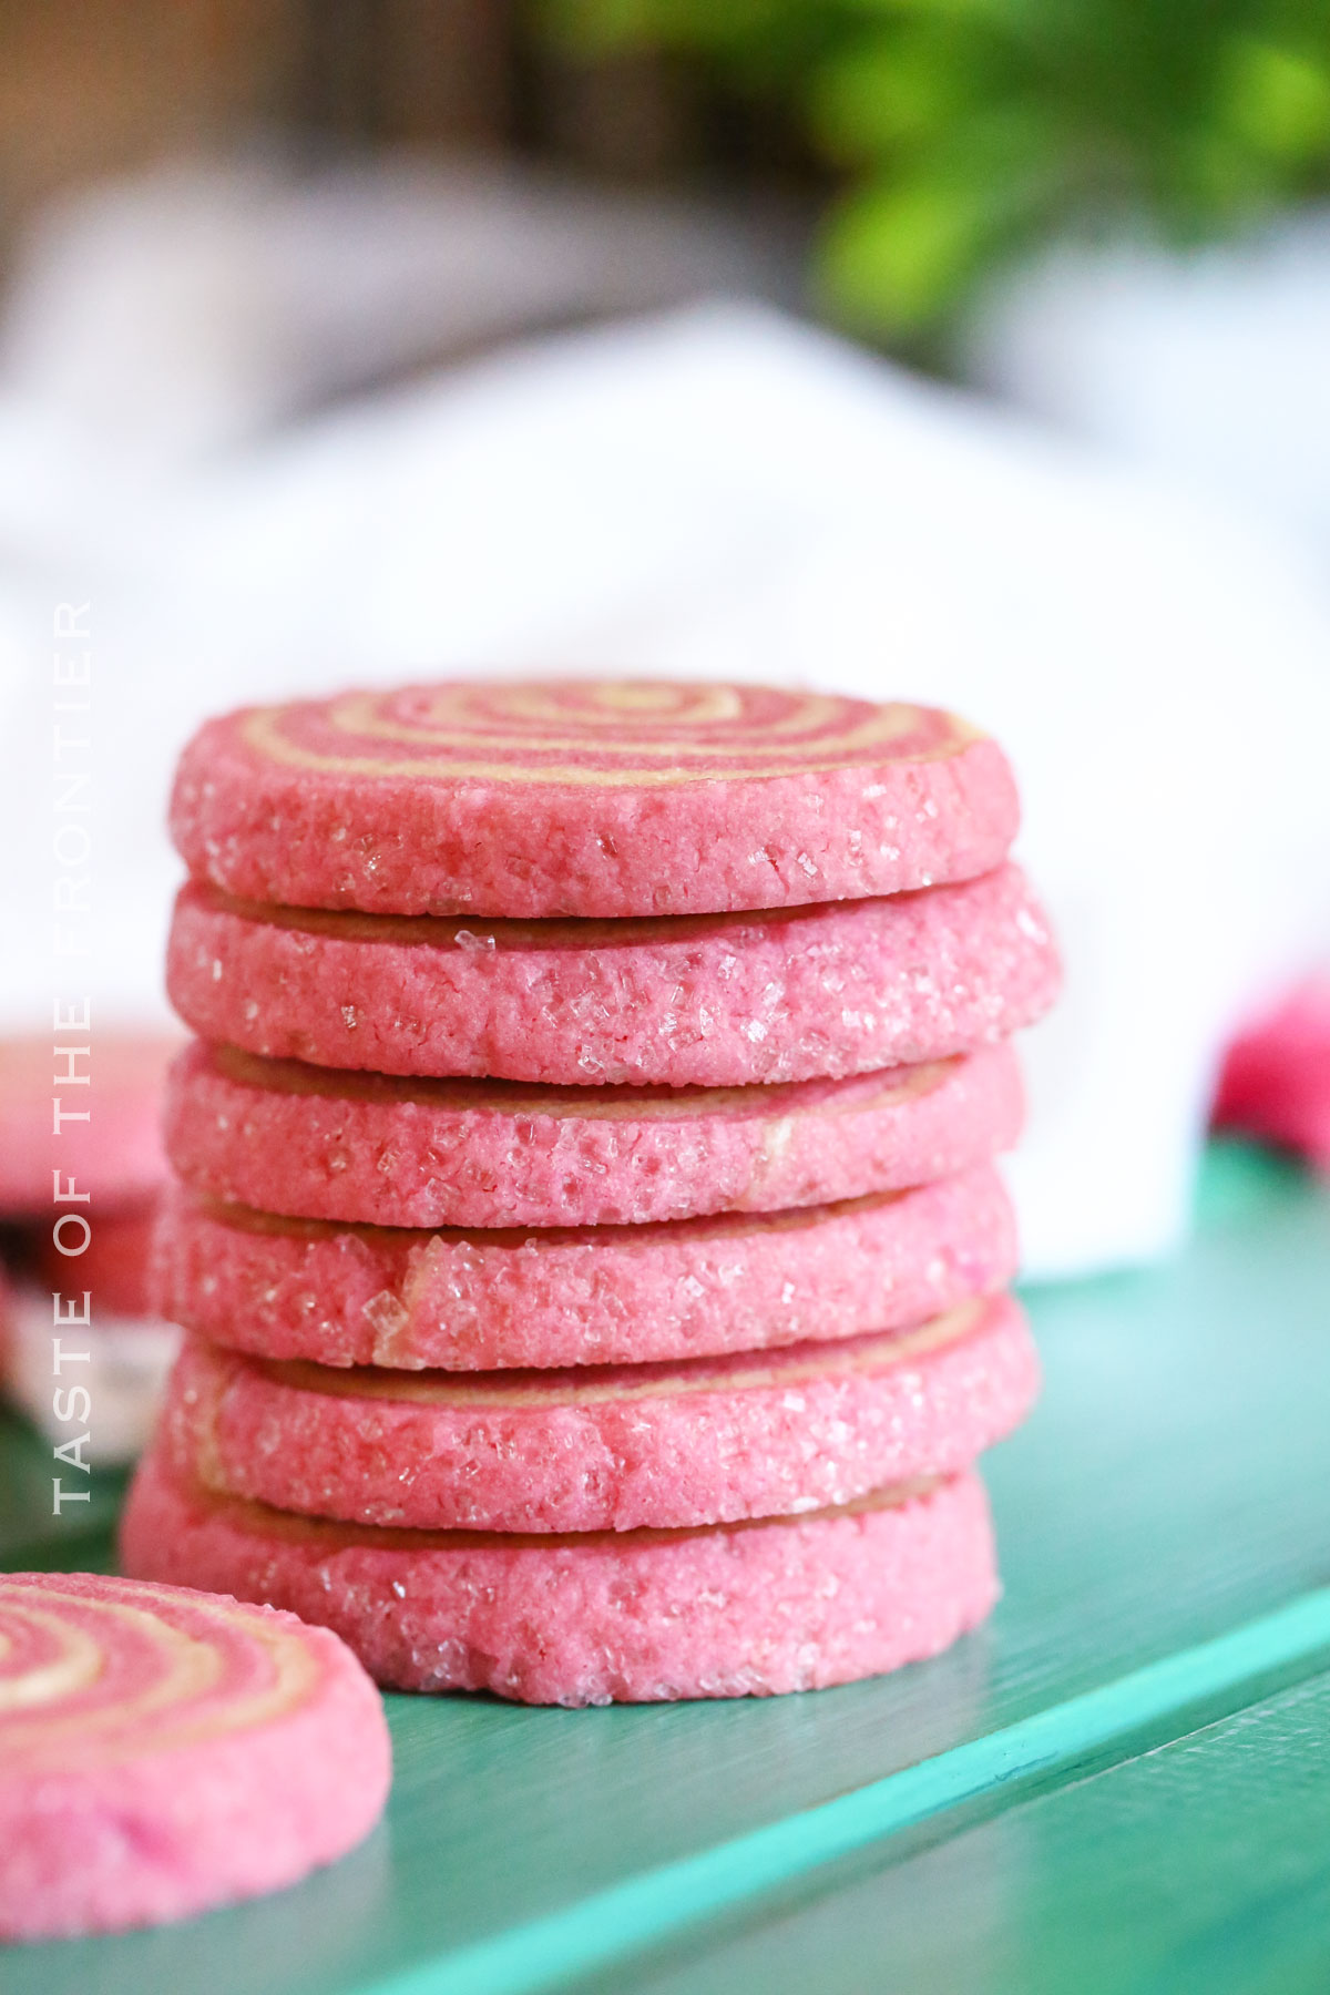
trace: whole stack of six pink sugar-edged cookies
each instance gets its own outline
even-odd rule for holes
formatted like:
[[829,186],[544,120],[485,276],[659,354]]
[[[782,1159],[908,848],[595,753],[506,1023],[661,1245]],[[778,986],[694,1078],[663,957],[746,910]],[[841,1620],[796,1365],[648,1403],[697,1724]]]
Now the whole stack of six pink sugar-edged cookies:
[[752,686],[445,684],[187,746],[124,1558],[383,1684],[738,1696],[997,1580],[1037,1361],[993,1155],[1057,988],[1001,750]]

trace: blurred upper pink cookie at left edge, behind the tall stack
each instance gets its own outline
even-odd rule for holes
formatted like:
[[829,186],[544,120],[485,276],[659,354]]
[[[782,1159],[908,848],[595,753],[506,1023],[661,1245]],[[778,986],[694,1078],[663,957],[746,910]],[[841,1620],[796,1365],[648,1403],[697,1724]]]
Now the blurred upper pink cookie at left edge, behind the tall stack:
[[[94,1215],[152,1195],[166,1177],[158,1123],[177,1045],[102,1029],[0,1039],[0,1219],[50,1223],[56,1169],[62,1185],[92,1191]],[[56,1099],[62,1117],[90,1121],[64,1119],[56,1135]]]

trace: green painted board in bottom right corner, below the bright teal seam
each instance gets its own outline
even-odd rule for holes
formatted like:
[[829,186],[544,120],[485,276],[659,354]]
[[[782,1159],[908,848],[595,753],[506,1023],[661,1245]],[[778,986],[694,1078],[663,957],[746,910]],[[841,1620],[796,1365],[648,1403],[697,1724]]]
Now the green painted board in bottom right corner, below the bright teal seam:
[[[1330,1676],[937,1849],[766,1899],[640,1995],[1324,1995]],[[883,1857],[887,1861],[883,1863]],[[602,1983],[608,1987],[610,1983]],[[624,1987],[624,1981],[612,1983]],[[588,1989],[588,1983],[582,1983]]]

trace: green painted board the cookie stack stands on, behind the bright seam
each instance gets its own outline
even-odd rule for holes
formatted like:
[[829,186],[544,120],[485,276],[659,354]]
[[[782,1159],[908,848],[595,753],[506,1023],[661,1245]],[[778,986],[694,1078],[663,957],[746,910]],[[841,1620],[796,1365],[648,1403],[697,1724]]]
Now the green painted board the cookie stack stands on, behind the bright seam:
[[[14,1949],[0,1965],[4,1995],[550,1985],[564,1971],[558,1921],[592,1895],[644,1877],[650,1895],[662,1865],[1031,1720],[1330,1582],[1322,1189],[1278,1161],[1216,1149],[1198,1237],[1174,1263],[1027,1299],[1045,1396],[985,1468],[1005,1598],[949,1656],[748,1704],[540,1712],[389,1698],[397,1784],[365,1849],[293,1891],[185,1927]],[[0,1558],[18,1564],[22,1548],[22,1562],[96,1564],[106,1542],[42,1516],[50,1486],[22,1454],[0,1436]],[[1250,1694],[1266,1688],[1252,1680]],[[1242,1702],[1238,1688],[1232,1706]],[[1178,1728],[1196,1722],[1184,1704],[1178,1696]],[[977,1833],[963,1815],[955,1829]],[[794,1823],[792,1841],[800,1833]],[[905,1857],[915,1843],[891,1847]],[[670,1917],[694,1911],[682,1901]],[[526,1927],[522,1955],[512,1935]],[[487,1951],[504,1935],[502,1957]],[[608,1941],[620,1957],[606,1985],[634,1987],[638,1939],[624,1929]],[[642,1959],[640,1971],[654,1967]]]

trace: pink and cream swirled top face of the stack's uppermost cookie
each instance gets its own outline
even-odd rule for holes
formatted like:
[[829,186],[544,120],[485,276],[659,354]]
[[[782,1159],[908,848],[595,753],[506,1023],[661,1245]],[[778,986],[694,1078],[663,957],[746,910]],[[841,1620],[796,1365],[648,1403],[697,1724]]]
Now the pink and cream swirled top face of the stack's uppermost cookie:
[[933,762],[977,730],[931,706],[770,686],[510,680],[347,692],[239,718],[261,760],[325,776],[664,786]]

